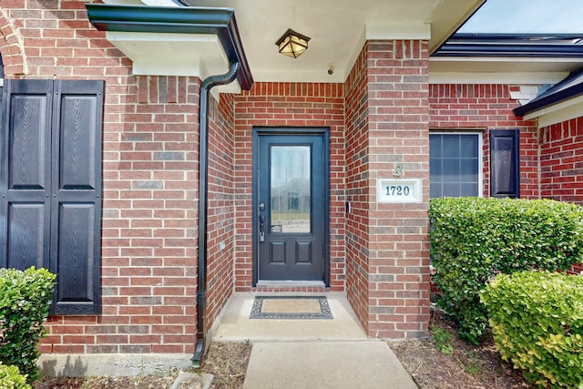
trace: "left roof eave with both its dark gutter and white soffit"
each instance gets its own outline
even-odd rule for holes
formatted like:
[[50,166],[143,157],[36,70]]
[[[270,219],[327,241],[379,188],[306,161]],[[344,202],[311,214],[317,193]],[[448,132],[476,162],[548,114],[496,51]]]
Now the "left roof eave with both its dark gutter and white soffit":
[[253,85],[233,9],[190,6],[86,4],[93,26],[133,62],[136,75],[222,75],[239,62],[237,93]]

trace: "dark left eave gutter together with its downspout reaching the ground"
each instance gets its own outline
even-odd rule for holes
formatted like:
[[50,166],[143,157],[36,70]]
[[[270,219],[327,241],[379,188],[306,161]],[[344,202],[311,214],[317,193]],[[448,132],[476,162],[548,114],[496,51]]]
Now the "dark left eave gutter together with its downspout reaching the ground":
[[132,5],[86,4],[89,21],[100,31],[143,33],[216,34],[229,58],[230,68],[224,75],[202,81],[199,97],[199,251],[197,292],[197,343],[192,363],[199,367],[205,352],[207,238],[209,199],[209,97],[210,89],[237,79],[243,90],[253,86],[234,11],[230,8],[154,7]]

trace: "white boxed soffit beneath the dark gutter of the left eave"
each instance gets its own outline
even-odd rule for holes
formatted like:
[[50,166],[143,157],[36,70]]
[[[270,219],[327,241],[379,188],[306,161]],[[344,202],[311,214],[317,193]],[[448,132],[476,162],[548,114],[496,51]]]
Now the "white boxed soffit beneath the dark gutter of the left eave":
[[[132,60],[134,75],[205,79],[229,70],[229,59],[214,34],[108,31],[107,40]],[[240,92],[237,80],[217,88],[220,92]]]

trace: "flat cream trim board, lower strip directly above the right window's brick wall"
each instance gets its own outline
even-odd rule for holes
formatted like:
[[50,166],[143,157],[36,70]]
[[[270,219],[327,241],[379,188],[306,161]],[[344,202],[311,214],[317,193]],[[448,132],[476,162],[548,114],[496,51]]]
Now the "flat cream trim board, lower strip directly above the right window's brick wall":
[[566,72],[430,72],[429,84],[557,84]]

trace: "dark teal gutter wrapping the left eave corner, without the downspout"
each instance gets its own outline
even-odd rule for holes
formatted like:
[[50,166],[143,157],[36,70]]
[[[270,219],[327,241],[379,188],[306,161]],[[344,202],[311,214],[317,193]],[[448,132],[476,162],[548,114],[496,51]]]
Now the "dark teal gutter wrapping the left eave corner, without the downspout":
[[99,31],[136,33],[215,34],[229,63],[238,62],[237,80],[243,90],[253,86],[251,68],[240,41],[232,8],[195,6],[86,4],[89,22]]

